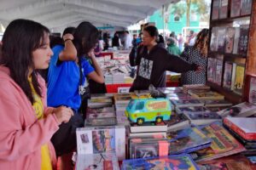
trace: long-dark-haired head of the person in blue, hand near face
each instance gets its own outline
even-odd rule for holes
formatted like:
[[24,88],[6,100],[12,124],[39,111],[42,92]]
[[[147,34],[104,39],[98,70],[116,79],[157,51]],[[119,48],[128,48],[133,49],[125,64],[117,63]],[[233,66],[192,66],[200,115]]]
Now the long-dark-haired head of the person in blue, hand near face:
[[88,54],[96,47],[99,31],[90,22],[84,21],[79,24],[73,34],[73,43],[77,48],[79,57]]

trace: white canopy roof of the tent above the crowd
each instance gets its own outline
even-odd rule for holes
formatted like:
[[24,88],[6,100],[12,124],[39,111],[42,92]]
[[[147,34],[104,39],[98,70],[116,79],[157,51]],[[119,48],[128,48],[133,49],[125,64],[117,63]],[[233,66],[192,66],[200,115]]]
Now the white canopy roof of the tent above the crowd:
[[51,30],[90,21],[96,26],[126,27],[177,0],[1,0],[0,21],[30,19]]

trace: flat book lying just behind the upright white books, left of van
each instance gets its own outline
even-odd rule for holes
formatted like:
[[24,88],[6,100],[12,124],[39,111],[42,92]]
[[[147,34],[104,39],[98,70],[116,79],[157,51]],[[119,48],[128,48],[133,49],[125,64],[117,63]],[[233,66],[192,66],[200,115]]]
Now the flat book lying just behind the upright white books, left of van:
[[108,125],[116,125],[115,117],[106,117],[106,118],[88,118],[84,122],[84,126],[108,126]]

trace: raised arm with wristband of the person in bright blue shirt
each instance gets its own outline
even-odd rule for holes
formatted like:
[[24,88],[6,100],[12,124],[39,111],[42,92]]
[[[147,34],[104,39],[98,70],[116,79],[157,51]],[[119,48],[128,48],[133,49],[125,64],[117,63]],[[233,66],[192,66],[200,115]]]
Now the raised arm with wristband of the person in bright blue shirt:
[[76,60],[77,59],[77,49],[73,45],[73,35],[66,34],[63,36],[64,49],[59,54],[59,59],[61,61]]

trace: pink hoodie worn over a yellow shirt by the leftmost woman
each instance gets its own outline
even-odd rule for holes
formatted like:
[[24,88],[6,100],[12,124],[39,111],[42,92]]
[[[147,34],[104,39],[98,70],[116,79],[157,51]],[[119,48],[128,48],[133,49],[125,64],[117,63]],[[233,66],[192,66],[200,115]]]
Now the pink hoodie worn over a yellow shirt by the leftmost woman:
[[58,130],[53,108],[46,107],[46,88],[38,76],[44,102],[43,120],[38,121],[26,94],[9,77],[9,69],[0,65],[0,169],[41,169],[41,146],[48,143],[55,166],[53,145],[49,142]]

